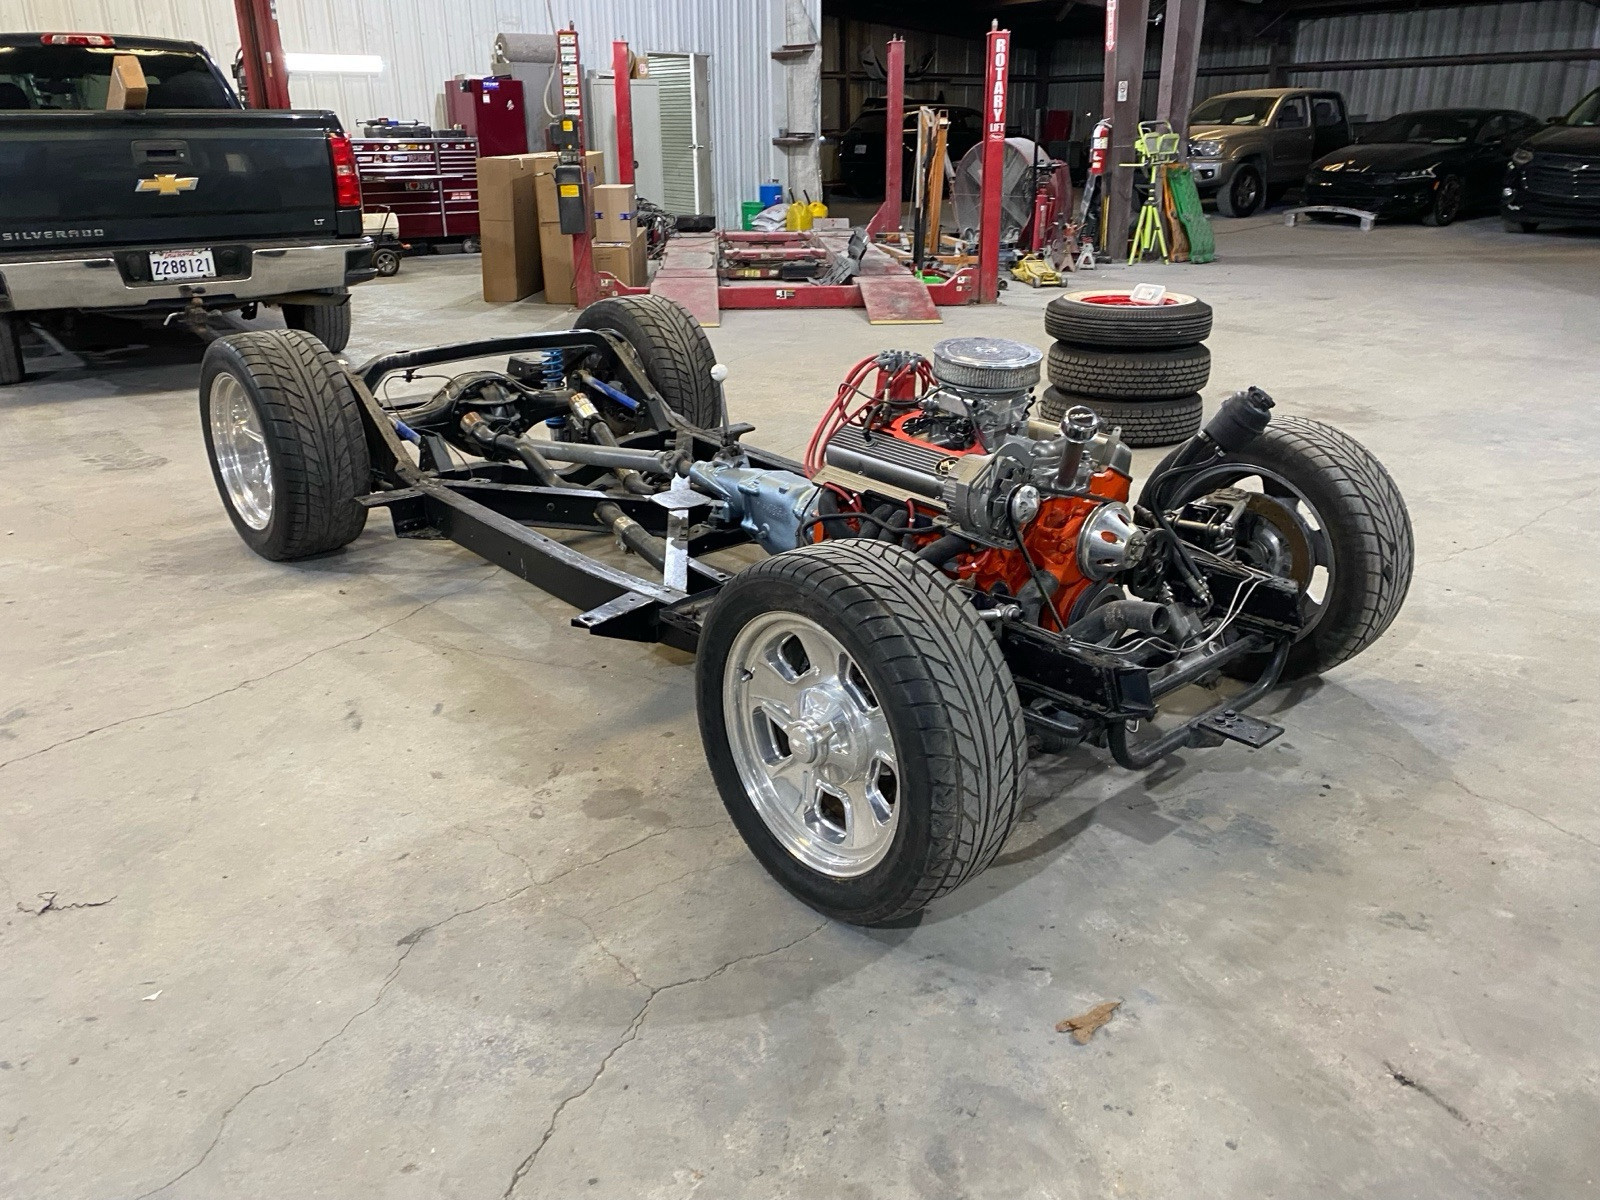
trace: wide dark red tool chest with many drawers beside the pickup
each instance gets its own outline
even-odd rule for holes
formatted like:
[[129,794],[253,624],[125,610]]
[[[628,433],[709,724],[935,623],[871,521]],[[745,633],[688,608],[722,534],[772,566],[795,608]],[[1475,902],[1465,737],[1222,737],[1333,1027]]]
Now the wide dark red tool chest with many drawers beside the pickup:
[[478,232],[474,138],[358,138],[355,165],[368,213],[394,213],[402,242],[459,242]]

